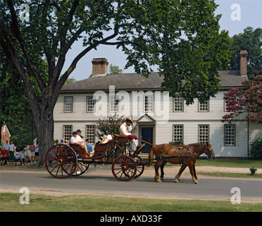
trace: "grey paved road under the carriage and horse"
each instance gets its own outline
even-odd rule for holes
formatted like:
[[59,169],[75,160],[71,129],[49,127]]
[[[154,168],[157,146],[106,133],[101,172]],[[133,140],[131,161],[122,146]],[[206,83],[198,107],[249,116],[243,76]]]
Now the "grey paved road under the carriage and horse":
[[152,177],[141,176],[130,182],[120,182],[113,174],[92,174],[79,177],[55,179],[48,172],[4,172],[0,171],[2,189],[28,189],[65,191],[75,193],[115,194],[156,197],[227,199],[233,187],[241,191],[242,201],[262,201],[262,180],[200,177],[200,184],[193,184],[190,177],[182,177],[175,184],[173,177],[163,183],[154,182]]

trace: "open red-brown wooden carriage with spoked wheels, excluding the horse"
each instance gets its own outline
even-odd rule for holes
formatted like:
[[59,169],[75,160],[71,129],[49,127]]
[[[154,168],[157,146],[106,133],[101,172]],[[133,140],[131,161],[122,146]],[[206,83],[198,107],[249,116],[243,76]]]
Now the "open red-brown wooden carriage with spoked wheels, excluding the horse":
[[[145,144],[132,153],[130,145],[127,144],[131,142],[130,138],[116,134],[115,137],[107,143],[96,144],[94,155],[91,157],[83,156],[80,145],[71,143],[54,145],[46,153],[46,169],[53,177],[64,179],[84,174],[90,164],[105,164],[112,165],[112,173],[120,181],[139,177],[147,163],[138,156]],[[119,145],[120,143],[123,143],[123,147]],[[114,159],[113,155],[119,152],[120,156]]]

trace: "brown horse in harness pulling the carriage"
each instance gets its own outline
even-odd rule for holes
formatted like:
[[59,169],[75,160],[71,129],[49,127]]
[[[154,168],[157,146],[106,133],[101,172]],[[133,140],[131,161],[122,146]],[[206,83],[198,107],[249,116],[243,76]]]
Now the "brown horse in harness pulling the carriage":
[[213,149],[210,143],[193,143],[187,146],[173,146],[168,144],[153,145],[149,153],[149,166],[153,164],[154,155],[156,156],[156,165],[155,165],[155,181],[161,182],[159,179],[158,169],[161,166],[161,178],[163,179],[163,167],[166,165],[166,162],[173,164],[182,164],[178,174],[175,176],[175,182],[179,183],[180,175],[186,167],[189,167],[190,173],[192,175],[192,180],[194,184],[199,184],[199,181],[196,177],[196,170],[194,163],[199,155],[206,153],[209,160],[215,158]]

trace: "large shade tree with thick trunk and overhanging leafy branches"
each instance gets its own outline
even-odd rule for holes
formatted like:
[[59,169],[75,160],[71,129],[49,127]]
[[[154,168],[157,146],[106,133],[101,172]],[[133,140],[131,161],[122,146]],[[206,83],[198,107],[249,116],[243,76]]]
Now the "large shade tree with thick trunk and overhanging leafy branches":
[[[30,7],[29,20],[20,20],[23,13],[18,18],[22,4]],[[217,70],[229,63],[231,54],[228,32],[219,31],[217,6],[214,0],[1,1],[1,47],[23,79],[32,107],[38,165],[53,144],[53,111],[63,84],[77,62],[100,45],[123,49],[125,69],[134,66],[143,76],[158,65],[163,88],[170,95],[180,93],[187,104],[216,95]],[[69,49],[80,40],[84,49],[59,79]],[[47,62],[44,70],[42,61]]]

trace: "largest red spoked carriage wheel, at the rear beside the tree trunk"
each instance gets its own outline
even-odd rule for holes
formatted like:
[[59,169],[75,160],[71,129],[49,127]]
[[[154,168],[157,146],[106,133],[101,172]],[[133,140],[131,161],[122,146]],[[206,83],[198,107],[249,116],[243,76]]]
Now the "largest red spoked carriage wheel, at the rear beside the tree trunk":
[[46,153],[46,169],[53,177],[70,177],[77,167],[75,151],[65,144],[54,145]]

